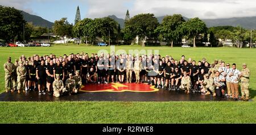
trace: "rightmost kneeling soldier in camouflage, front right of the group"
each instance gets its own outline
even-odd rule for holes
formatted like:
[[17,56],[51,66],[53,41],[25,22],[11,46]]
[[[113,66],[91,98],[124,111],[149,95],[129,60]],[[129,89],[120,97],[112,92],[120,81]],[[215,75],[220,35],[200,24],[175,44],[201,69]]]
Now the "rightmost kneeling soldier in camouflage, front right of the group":
[[[216,93],[215,93],[215,87],[214,87],[214,80],[212,77],[209,76],[209,74],[205,74],[204,75],[204,82],[203,82],[203,85],[202,85],[202,90],[201,92],[205,93],[205,95],[209,95],[210,92],[213,93],[213,97],[216,96]],[[210,91],[209,91],[210,90]]]

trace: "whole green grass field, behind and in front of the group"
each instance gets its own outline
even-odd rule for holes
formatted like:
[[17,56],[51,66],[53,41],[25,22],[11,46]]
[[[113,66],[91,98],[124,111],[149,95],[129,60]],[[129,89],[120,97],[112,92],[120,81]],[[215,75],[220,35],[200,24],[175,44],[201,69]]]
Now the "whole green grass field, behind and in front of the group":
[[[97,53],[109,47],[54,45],[52,47],[0,47],[0,65],[11,56]],[[0,102],[0,123],[256,123],[256,49],[181,48],[117,46],[115,50],[159,50],[162,56],[201,60],[207,58],[247,63],[251,71],[252,102]],[[4,71],[0,68],[0,92],[4,92]]]

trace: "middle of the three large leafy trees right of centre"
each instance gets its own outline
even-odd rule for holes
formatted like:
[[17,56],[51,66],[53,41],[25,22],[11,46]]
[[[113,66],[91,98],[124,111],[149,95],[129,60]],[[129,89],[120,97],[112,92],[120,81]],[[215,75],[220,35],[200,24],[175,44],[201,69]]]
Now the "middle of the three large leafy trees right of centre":
[[156,28],[156,32],[160,33],[160,38],[171,42],[171,47],[174,41],[178,41],[181,37],[181,25],[185,22],[182,15],[173,15],[164,17],[162,24]]

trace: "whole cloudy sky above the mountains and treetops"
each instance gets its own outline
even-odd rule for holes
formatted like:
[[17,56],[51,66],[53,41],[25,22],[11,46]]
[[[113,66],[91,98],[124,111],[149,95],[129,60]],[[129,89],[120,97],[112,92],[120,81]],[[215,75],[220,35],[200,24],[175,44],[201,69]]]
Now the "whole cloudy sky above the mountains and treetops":
[[61,18],[75,20],[76,8],[81,18],[100,18],[116,15],[153,13],[155,16],[182,14],[201,19],[256,16],[255,0],[0,0],[0,5],[11,6],[54,22]]

